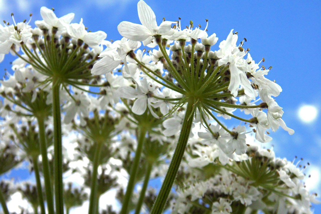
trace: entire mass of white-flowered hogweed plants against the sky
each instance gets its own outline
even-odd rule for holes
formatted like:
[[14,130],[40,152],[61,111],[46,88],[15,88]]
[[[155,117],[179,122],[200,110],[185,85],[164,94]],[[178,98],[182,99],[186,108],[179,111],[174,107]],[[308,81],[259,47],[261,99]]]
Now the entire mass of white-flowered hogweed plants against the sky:
[[[271,67],[255,63],[245,38],[237,45],[237,32],[213,51],[208,20],[204,30],[180,19],[158,26],[140,0],[142,24],[121,22],[123,38],[111,43],[70,23],[73,13],[40,13],[35,28],[14,19],[0,27],[0,59],[18,57],[1,81],[0,172],[28,163],[36,180],[1,181],[3,213],[17,192],[28,201],[21,213],[68,214],[86,201],[89,214],[312,213],[306,167],[248,140],[294,131],[273,98],[281,87],[265,77]],[[121,208],[102,208],[110,190]]]

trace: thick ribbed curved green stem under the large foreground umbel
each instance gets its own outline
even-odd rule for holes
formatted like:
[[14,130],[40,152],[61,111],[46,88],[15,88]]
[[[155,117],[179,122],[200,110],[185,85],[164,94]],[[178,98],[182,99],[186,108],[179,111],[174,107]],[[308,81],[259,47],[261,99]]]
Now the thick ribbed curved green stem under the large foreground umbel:
[[160,188],[160,192],[158,193],[156,201],[152,207],[151,214],[160,214],[163,212],[169,192],[175,181],[179,165],[184,156],[189,133],[193,124],[193,117],[190,117],[190,115],[194,113],[194,110],[194,102],[188,102],[182,129],[178,138],[178,143],[175,148],[175,152],[170,162],[169,169],[165,176],[164,182]]

